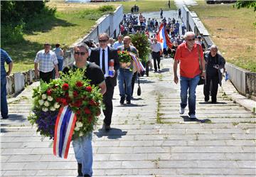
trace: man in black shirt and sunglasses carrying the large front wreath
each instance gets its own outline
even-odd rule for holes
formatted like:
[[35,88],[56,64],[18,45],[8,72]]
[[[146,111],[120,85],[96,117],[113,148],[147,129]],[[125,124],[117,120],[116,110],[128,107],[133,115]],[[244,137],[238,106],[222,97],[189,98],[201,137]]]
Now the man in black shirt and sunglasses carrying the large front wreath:
[[[90,80],[90,85],[100,87],[100,93],[104,95],[107,90],[104,74],[99,66],[87,61],[88,49],[87,45],[75,46],[75,62],[65,67],[63,73],[68,74],[69,70],[85,69],[85,78]],[[73,139],[73,148],[75,159],[78,161],[78,176],[92,176],[92,132]]]

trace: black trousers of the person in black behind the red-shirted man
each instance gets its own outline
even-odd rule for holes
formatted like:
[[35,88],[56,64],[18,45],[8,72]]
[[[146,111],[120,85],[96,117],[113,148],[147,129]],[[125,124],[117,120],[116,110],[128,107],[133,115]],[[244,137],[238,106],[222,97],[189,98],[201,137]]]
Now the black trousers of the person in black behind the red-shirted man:
[[[210,87],[210,82],[212,83]],[[209,95],[211,95],[211,101],[217,101],[217,92],[218,92],[218,75],[217,76],[208,76],[206,75],[206,85],[203,85],[203,95],[205,95],[205,100],[209,100]]]

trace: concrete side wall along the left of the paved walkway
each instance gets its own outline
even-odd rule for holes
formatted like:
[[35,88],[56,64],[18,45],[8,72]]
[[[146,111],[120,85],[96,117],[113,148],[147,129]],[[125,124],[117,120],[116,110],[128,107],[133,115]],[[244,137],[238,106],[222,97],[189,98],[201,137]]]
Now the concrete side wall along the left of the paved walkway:
[[[105,15],[98,19],[96,25],[92,26],[90,32],[84,38],[80,38],[76,43],[73,43],[68,50],[65,50],[63,65],[68,65],[74,61],[73,46],[83,43],[85,40],[97,41],[97,36],[100,33],[108,33],[111,37],[115,38],[119,34],[119,23],[122,21],[122,18],[123,6],[118,6],[113,14]],[[7,94],[9,96],[16,95],[34,80],[36,80],[36,77],[35,71],[32,68],[23,73],[14,73],[14,75],[7,77]]]

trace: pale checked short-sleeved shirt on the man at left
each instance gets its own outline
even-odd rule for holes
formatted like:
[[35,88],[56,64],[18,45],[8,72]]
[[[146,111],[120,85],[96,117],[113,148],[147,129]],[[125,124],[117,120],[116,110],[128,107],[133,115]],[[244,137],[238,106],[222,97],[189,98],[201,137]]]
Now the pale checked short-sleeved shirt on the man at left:
[[45,50],[40,50],[36,54],[34,63],[39,63],[39,70],[43,73],[48,73],[53,70],[54,65],[58,64],[55,53],[50,50],[48,53]]

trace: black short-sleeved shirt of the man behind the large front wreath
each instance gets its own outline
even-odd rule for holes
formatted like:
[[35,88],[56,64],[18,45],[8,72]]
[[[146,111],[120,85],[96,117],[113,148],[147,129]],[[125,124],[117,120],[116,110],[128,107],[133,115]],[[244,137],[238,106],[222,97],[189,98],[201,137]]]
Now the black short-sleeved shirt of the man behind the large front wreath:
[[[104,74],[100,69],[100,66],[96,65],[95,63],[90,63],[87,65],[85,71],[85,78],[90,80],[90,85],[100,85],[103,81],[105,81]],[[78,69],[74,63],[68,65],[63,69],[63,73],[68,73],[69,70],[76,70]]]

